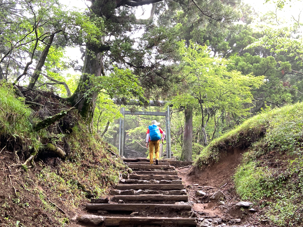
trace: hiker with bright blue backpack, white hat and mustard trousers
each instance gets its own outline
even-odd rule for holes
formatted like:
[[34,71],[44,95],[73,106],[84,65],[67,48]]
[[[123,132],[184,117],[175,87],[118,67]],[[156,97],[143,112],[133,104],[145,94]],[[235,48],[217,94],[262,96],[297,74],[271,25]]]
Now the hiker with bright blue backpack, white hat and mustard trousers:
[[149,162],[151,165],[154,164],[153,156],[154,156],[154,147],[155,147],[155,156],[156,156],[156,165],[159,165],[159,142],[162,134],[162,142],[165,138],[165,132],[158,127],[160,123],[156,120],[151,121],[151,125],[148,126],[148,130],[146,133],[146,148],[148,148],[149,142]]

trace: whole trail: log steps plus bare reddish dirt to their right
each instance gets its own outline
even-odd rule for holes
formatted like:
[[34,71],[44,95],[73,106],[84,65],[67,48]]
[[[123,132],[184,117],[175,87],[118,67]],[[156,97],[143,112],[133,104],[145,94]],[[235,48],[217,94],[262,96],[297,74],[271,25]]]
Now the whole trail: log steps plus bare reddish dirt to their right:
[[[98,224],[102,226],[260,226],[249,207],[235,207],[240,200],[230,177],[244,152],[228,151],[219,163],[212,163],[205,170],[192,166],[176,169],[169,163],[147,165],[144,162],[148,160],[127,159],[133,170],[128,179],[122,179],[111,191],[109,202],[87,204],[87,214],[96,215],[93,219],[102,217]],[[174,164],[180,167],[188,162]],[[222,194],[211,198],[219,190]],[[74,226],[88,226],[81,223],[74,222]]]

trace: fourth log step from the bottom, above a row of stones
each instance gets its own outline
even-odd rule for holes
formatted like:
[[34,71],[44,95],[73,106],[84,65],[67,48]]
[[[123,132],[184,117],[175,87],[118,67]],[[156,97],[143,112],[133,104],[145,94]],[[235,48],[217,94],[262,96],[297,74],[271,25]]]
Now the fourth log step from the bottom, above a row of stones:
[[183,184],[117,184],[116,189],[118,190],[182,190],[184,189]]

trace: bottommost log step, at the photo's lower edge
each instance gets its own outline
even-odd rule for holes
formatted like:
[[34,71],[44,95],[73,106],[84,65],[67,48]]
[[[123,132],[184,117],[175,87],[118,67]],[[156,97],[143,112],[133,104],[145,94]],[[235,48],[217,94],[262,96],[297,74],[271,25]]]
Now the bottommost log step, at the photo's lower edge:
[[197,226],[195,218],[151,218],[151,217],[104,217],[105,226],[124,225],[161,225],[161,226]]

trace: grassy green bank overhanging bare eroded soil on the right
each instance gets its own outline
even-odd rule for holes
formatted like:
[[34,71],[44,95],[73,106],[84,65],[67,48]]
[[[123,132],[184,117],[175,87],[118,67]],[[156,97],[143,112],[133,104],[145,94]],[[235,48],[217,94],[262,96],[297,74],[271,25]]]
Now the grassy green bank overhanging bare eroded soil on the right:
[[234,175],[236,192],[258,202],[260,218],[278,226],[301,226],[302,116],[302,103],[264,111],[209,144],[195,165],[218,161],[226,149],[249,147]]

